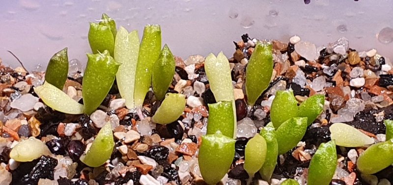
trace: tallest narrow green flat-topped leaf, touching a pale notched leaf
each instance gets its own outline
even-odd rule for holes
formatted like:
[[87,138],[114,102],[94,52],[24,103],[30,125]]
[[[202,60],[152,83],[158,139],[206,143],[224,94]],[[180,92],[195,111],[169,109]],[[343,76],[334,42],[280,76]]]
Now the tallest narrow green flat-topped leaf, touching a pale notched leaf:
[[146,25],[140,43],[137,73],[135,77],[134,101],[141,107],[144,97],[149,91],[153,65],[157,61],[161,50],[160,25]]

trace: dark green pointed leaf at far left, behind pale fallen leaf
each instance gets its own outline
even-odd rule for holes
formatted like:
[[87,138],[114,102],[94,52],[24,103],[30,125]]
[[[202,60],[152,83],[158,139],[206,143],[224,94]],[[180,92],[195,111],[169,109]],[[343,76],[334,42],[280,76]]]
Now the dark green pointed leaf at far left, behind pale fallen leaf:
[[68,48],[65,47],[54,54],[45,71],[45,80],[60,90],[63,90],[68,75],[67,50]]

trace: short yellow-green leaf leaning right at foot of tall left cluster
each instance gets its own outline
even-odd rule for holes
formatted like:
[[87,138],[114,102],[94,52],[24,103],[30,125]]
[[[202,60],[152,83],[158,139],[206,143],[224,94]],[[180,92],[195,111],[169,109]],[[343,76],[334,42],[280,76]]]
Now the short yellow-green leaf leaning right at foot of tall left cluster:
[[186,107],[185,95],[179,93],[168,93],[152,117],[152,120],[160,124],[168,124],[176,121],[183,114]]

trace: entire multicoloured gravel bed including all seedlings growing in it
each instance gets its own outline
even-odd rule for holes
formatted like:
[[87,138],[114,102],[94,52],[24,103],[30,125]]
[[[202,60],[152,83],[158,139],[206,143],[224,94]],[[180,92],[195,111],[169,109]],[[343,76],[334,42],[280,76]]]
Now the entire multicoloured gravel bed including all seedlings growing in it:
[[46,71],[0,60],[0,184],[391,185],[390,61],[343,37],[234,39],[183,60],[160,25],[103,14],[85,68],[67,47]]

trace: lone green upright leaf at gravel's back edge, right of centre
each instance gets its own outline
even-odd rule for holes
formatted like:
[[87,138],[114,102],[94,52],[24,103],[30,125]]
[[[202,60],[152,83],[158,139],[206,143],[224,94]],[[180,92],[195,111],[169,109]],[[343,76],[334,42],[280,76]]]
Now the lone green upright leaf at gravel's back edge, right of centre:
[[246,93],[249,105],[254,105],[258,97],[269,87],[272,73],[272,45],[257,44],[246,69]]

